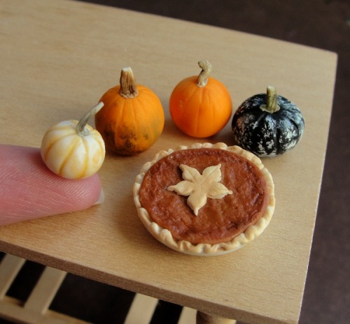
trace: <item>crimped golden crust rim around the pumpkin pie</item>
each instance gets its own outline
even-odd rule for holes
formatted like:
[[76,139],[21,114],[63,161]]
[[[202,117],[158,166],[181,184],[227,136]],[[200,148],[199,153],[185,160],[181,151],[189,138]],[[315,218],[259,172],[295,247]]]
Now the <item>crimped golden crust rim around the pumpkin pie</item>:
[[[144,177],[148,170],[151,169],[155,163],[160,161],[161,159],[165,158],[166,156],[169,156],[173,152],[183,150],[183,149],[223,149],[228,152],[233,152],[242,158],[250,161],[254,165],[260,169],[262,173],[262,177],[265,179],[266,182],[266,193],[267,193],[267,203],[265,205],[265,211],[262,212],[262,215],[260,218],[258,218],[255,223],[252,223],[249,225],[244,232],[238,233],[235,237],[233,237],[228,242],[219,242],[219,243],[197,243],[193,244],[189,242],[188,240],[177,240],[174,238],[170,230],[167,230],[166,228],[162,228],[162,226],[158,225],[153,219],[151,219],[150,214],[148,211],[141,205],[140,201],[140,188],[141,184],[144,181]],[[209,165],[208,165],[209,166]],[[172,184],[169,184],[171,186]],[[167,189],[165,189],[167,190]],[[230,146],[225,145],[225,143],[219,142],[216,144],[211,143],[196,143],[194,145],[190,146],[180,146],[176,149],[168,149],[167,151],[162,150],[158,152],[158,154],[155,155],[152,161],[148,161],[143,165],[141,168],[141,171],[139,175],[137,175],[134,183],[133,188],[134,193],[134,203],[137,207],[137,214],[139,216],[139,219],[144,224],[146,229],[157,239],[158,241],[162,242],[162,244],[165,244],[171,249],[174,249],[175,251],[179,251],[182,253],[187,253],[190,255],[195,256],[217,256],[224,253],[228,253],[231,251],[235,251],[242,246],[246,245],[248,242],[251,242],[255,239],[255,237],[258,237],[263,230],[267,227],[269,224],[270,219],[272,218],[272,214],[274,213],[274,206],[275,206],[275,200],[274,200],[274,182],[272,180],[272,175],[269,173],[267,168],[262,164],[261,160],[252,154],[251,152],[248,152],[244,149],[241,149],[241,147],[238,146]]]

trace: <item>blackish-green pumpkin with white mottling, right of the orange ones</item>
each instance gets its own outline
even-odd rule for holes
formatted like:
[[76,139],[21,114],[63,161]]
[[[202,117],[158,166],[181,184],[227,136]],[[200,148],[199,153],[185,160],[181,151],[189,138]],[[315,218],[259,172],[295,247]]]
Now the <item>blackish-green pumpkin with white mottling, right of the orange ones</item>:
[[297,106],[267,87],[244,101],[232,118],[237,145],[253,154],[277,156],[293,149],[304,132],[304,117]]

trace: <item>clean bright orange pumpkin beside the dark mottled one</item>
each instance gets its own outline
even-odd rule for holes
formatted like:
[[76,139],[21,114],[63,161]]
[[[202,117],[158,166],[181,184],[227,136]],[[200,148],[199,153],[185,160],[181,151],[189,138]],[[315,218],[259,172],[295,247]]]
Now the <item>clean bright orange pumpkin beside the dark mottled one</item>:
[[202,72],[182,80],[172,91],[170,115],[183,133],[207,138],[221,131],[232,114],[228,89],[220,81],[209,78],[209,61],[198,62]]

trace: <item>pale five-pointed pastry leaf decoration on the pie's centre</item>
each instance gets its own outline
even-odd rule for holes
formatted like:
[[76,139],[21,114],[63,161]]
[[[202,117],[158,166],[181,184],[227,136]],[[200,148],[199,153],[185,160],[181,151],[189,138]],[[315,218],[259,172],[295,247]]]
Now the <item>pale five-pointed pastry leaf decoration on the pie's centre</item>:
[[232,191],[228,190],[221,181],[221,164],[212,165],[202,172],[188,165],[179,165],[182,170],[183,181],[169,186],[169,191],[178,195],[188,196],[187,203],[198,216],[199,210],[207,203],[207,198],[221,199]]

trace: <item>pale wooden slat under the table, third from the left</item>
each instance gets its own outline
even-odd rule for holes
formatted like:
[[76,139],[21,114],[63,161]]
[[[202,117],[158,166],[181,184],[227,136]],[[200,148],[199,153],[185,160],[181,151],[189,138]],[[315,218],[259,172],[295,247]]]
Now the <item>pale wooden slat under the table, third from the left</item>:
[[125,324],[148,324],[157,304],[158,300],[153,297],[136,294],[125,318]]

